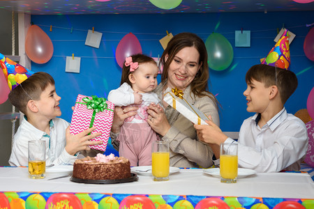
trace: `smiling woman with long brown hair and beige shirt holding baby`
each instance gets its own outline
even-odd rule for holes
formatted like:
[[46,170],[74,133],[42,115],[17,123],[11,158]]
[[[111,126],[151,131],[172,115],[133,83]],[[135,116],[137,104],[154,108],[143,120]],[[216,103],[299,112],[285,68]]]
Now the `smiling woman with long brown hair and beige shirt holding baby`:
[[[179,88],[184,92],[184,98],[205,115],[211,116],[212,121],[219,125],[218,102],[208,89],[209,68],[207,50],[202,39],[194,33],[179,33],[167,45],[160,58],[163,65],[161,83],[156,88],[160,100],[168,88]],[[204,167],[213,165],[213,150],[197,139],[193,123],[182,116],[177,110],[163,102],[163,108],[151,104],[147,113],[147,122],[163,140],[170,143],[170,166],[172,167]],[[136,114],[135,107],[122,110],[114,109],[112,123],[112,144],[119,134],[125,118]],[[215,153],[218,147],[213,146]]]

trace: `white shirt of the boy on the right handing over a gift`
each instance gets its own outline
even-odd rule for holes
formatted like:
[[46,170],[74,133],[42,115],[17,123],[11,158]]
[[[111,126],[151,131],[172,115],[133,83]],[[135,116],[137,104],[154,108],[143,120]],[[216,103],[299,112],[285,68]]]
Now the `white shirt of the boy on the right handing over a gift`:
[[[285,107],[262,128],[255,114],[241,125],[238,140],[239,167],[257,172],[298,171],[306,155],[308,134],[306,125]],[[228,138],[225,142],[232,142]],[[237,143],[237,142],[235,142]]]

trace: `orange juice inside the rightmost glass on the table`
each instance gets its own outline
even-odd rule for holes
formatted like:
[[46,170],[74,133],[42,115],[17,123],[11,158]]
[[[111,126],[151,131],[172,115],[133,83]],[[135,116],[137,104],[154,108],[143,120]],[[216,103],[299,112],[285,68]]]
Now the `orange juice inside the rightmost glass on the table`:
[[220,176],[234,179],[238,176],[238,156],[220,155]]

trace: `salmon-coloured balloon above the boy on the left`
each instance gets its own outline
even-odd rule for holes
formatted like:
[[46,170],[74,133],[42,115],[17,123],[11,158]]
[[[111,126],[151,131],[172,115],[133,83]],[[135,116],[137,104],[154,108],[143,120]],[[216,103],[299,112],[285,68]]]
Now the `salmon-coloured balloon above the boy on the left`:
[[49,36],[39,26],[32,25],[27,31],[25,52],[31,61],[43,64],[50,61],[54,53],[54,46]]

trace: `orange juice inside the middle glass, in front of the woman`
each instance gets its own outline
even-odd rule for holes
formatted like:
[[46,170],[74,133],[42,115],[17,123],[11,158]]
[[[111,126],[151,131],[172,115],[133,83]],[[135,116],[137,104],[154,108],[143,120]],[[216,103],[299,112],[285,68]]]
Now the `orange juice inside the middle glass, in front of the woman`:
[[157,178],[169,176],[169,153],[151,153],[151,173]]

